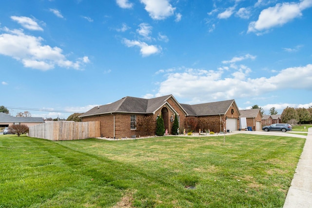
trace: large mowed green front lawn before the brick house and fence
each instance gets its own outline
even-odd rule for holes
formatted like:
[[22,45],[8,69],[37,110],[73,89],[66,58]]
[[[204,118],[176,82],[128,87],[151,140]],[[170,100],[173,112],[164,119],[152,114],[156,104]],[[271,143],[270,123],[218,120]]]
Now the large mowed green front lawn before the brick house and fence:
[[0,208],[278,208],[305,139],[0,136]]

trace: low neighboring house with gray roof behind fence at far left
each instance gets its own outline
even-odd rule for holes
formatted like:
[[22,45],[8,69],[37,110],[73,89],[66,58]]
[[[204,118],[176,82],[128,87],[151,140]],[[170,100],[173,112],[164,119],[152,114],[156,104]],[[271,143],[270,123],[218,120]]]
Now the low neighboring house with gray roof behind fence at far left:
[[41,117],[14,117],[0,112],[0,127],[8,127],[12,124],[25,124],[30,127],[40,123],[44,123],[44,120]]

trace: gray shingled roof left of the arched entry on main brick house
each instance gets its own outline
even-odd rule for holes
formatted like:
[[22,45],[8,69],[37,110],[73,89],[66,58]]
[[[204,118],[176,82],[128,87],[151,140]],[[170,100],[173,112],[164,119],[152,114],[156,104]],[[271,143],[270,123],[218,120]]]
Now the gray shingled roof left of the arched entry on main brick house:
[[116,102],[94,107],[79,117],[109,113],[154,113],[158,108],[165,104],[167,99],[171,96],[172,95],[166,95],[151,99],[127,96]]

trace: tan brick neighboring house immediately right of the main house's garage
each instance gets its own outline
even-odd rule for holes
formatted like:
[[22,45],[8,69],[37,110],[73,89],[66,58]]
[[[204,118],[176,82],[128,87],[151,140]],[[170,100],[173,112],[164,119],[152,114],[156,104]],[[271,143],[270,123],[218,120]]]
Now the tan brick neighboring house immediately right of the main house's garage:
[[253,131],[261,131],[261,121],[262,121],[262,113],[260,109],[248,109],[248,110],[240,110],[240,124],[246,124],[244,126],[241,125],[241,129],[245,129],[247,127],[252,127]]

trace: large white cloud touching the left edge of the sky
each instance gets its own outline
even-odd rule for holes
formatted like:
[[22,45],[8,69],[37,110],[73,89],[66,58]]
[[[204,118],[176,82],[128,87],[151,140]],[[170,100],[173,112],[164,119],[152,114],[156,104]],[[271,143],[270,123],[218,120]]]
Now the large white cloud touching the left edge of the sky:
[[42,45],[43,38],[26,35],[22,30],[3,28],[0,34],[0,54],[19,60],[24,67],[46,71],[55,65],[81,69],[89,62],[88,57],[78,58],[76,62],[67,60],[59,47]]

